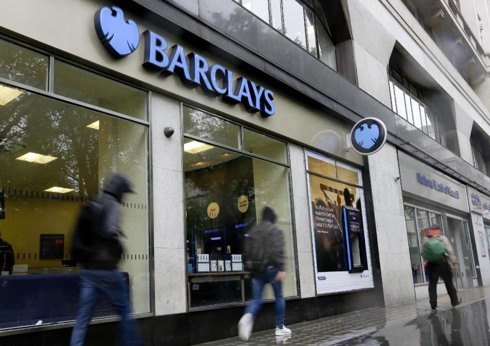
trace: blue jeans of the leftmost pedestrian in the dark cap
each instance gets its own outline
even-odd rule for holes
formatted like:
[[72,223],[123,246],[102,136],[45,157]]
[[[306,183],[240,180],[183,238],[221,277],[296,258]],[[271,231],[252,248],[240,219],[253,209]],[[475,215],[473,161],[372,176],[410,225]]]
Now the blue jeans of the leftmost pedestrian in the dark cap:
[[127,284],[117,269],[80,271],[80,305],[75,327],[71,332],[70,346],[83,346],[87,326],[100,295],[104,295],[121,318],[118,335],[120,345],[141,345],[136,323],[130,318]]

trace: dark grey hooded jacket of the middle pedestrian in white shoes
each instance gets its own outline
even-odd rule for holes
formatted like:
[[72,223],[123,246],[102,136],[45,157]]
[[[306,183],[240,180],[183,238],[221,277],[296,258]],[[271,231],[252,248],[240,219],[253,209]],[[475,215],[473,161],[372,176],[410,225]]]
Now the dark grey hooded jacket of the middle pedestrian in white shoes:
[[276,214],[274,210],[265,207],[262,211],[262,222],[257,230],[265,232],[267,238],[267,266],[275,266],[284,271],[284,232],[275,225]]

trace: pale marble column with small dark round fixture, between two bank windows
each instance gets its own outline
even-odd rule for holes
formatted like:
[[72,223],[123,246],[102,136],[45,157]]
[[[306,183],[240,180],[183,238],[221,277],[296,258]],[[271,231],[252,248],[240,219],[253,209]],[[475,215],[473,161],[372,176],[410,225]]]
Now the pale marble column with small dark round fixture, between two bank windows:
[[[180,103],[153,93],[151,97],[155,313],[186,311],[184,193]],[[165,127],[175,133],[167,138]]]

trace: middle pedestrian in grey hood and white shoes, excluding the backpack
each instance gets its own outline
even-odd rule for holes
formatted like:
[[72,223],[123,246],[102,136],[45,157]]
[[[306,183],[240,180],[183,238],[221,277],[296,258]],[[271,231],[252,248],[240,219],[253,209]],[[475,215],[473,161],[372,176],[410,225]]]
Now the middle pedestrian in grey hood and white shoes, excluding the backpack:
[[262,273],[253,273],[252,301],[245,309],[244,315],[238,322],[238,336],[247,341],[252,332],[254,318],[262,307],[262,290],[269,283],[274,289],[276,297],[276,337],[289,335],[291,330],[284,326],[284,296],[282,294],[282,280],[286,276],[284,271],[284,233],[274,223],[276,213],[272,208],[265,207],[262,210],[262,221],[256,225],[252,232],[263,232],[266,239],[267,263]]

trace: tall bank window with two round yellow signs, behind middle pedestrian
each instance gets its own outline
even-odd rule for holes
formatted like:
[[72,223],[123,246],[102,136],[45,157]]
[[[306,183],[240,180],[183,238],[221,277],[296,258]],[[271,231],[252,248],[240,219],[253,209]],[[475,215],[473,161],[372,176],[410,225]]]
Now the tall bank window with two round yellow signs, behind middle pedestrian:
[[[284,296],[296,296],[298,290],[286,144],[209,113],[191,107],[183,109],[189,307],[250,300],[250,273],[243,267],[243,240],[260,221],[265,206],[275,210],[278,216],[276,224],[284,232],[287,273],[283,286]],[[199,116],[193,117],[190,114]],[[199,123],[203,118],[206,119],[206,130],[197,132],[197,128],[203,129]],[[224,141],[229,143],[231,130],[208,130],[223,130],[224,124],[229,129],[238,128],[236,133],[233,132],[233,138],[243,132],[243,143],[240,139],[234,146],[218,144]],[[197,138],[199,133],[202,136]],[[194,148],[199,147],[199,150],[190,149],[189,143],[193,143]],[[274,148],[272,153],[266,153],[266,146]],[[243,147],[243,150],[236,147]],[[278,164],[277,161],[284,163]],[[272,290],[266,288],[264,299],[273,297]]]

